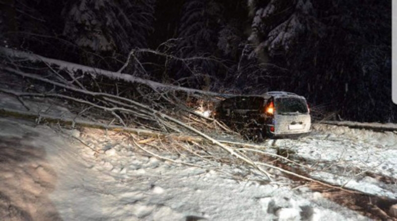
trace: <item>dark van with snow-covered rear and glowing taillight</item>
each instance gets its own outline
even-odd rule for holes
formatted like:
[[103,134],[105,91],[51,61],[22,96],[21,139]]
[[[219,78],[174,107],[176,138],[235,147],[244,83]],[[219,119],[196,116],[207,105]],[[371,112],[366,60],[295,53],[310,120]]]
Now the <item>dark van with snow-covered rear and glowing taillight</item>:
[[311,128],[306,99],[283,91],[227,98],[220,102],[215,116],[233,129],[256,137],[301,136]]

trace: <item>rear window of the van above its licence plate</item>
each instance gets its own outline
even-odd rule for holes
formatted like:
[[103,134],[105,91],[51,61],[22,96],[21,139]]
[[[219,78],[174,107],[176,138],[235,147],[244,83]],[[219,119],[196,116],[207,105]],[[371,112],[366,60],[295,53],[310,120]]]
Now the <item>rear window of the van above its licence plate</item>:
[[278,114],[283,113],[302,113],[307,114],[306,100],[299,98],[277,98],[275,99],[275,109]]

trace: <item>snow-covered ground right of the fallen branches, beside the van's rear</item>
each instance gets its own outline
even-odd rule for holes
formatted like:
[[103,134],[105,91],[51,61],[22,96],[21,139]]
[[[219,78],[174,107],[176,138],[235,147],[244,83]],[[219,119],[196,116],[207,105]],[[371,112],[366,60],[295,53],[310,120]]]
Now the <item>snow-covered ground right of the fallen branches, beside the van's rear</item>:
[[[334,185],[397,199],[397,134],[314,124],[311,136],[268,141]],[[269,144],[270,145],[270,144]]]

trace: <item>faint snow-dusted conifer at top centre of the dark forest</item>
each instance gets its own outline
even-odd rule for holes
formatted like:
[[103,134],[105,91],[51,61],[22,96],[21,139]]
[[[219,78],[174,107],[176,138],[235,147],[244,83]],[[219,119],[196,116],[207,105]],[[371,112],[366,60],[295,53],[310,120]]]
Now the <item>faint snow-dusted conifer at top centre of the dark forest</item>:
[[[182,10],[175,55],[180,58],[216,56],[222,22],[220,4],[213,0],[187,0]],[[198,59],[189,63],[174,62],[173,69],[176,70],[174,78],[185,78],[188,86],[196,87],[197,81],[216,75],[218,64]]]

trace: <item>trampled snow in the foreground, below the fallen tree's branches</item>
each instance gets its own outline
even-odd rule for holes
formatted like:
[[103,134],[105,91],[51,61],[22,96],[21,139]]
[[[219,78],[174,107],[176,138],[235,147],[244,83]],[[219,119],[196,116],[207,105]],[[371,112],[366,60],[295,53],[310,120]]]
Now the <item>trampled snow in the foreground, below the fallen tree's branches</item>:
[[0,118],[0,147],[0,220],[368,220],[304,186],[159,160],[113,132]]

